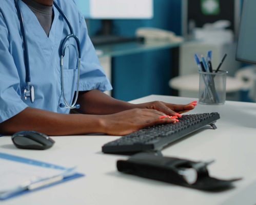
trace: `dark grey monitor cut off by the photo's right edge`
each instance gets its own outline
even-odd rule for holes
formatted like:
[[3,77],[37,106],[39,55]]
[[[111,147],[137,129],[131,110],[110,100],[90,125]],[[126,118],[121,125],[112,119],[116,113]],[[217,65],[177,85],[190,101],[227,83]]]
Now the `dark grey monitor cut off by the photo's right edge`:
[[244,0],[237,60],[256,64],[256,1]]

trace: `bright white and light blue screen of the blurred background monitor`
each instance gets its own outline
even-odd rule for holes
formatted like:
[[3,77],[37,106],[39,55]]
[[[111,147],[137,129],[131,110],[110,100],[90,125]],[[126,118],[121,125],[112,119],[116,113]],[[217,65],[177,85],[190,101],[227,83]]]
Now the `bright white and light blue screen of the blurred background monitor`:
[[153,0],[75,0],[85,18],[150,19]]

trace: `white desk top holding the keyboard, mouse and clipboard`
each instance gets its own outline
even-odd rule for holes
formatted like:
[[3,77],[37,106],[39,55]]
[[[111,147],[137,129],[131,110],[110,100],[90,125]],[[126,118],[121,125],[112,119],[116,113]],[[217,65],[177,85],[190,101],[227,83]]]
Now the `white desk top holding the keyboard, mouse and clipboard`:
[[[151,95],[133,103],[149,100],[185,104],[194,99]],[[86,177],[1,201],[1,204],[255,204],[256,104],[228,101],[223,106],[198,105],[191,113],[203,112],[220,113],[221,119],[216,122],[218,129],[198,131],[166,148],[163,154],[193,160],[215,159],[209,167],[212,176],[244,178],[235,183],[232,190],[202,192],[119,173],[116,160],[126,156],[101,152],[103,144],[116,139],[113,136],[53,137],[56,143],[46,151],[18,150],[10,137],[1,137],[0,152],[63,166],[77,165],[78,171],[86,174]]]

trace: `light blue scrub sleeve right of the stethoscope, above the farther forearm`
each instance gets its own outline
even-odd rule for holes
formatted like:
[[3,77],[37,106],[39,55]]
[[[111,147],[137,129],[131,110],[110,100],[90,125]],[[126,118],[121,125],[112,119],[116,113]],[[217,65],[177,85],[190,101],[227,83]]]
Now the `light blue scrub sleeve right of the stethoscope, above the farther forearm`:
[[81,41],[81,75],[80,91],[111,90],[112,86],[96,55],[89,38],[84,17],[80,14],[80,41]]

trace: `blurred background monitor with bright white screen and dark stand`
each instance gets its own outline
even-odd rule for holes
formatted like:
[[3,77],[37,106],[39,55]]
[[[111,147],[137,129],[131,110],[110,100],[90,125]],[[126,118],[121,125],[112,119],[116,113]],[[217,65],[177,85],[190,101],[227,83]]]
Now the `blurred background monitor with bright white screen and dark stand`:
[[91,36],[94,45],[141,41],[115,35],[113,20],[153,18],[153,0],[75,0],[75,3],[86,19],[101,19],[102,27]]

